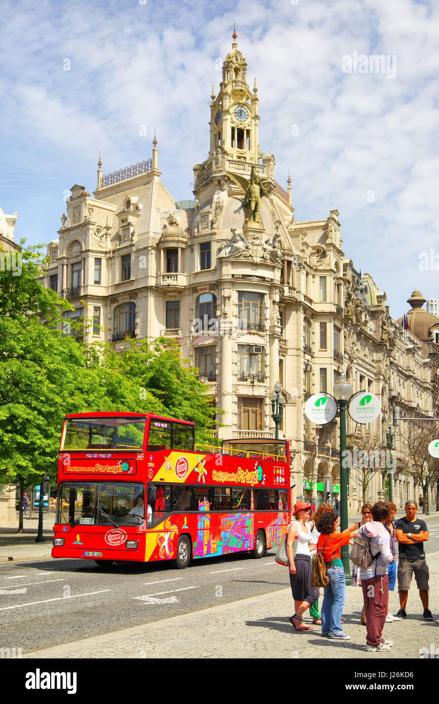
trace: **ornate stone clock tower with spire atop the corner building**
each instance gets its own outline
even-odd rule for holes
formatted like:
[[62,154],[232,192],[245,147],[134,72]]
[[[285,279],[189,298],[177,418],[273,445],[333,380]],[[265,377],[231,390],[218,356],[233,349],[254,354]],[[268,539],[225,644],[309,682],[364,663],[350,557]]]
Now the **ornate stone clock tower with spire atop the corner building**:
[[214,158],[221,146],[228,158],[247,163],[258,163],[263,155],[258,144],[258,97],[256,79],[253,91],[247,84],[247,62],[237,49],[237,34],[233,31],[232,51],[223,62],[223,80],[220,91],[211,96],[211,144]]

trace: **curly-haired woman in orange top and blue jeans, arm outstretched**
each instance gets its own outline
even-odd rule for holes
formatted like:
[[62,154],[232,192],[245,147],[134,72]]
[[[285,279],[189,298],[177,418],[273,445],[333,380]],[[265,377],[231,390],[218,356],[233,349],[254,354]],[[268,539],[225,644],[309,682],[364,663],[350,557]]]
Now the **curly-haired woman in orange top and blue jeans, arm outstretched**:
[[[357,533],[356,524],[342,533],[337,533],[338,517],[333,512],[322,513],[317,521],[320,533],[317,551],[323,553],[326,564],[328,584],[323,587],[323,604],[321,605],[321,634],[335,641],[349,641],[350,636],[343,633],[341,619],[346,601],[345,570],[340,555],[340,546],[347,545]],[[324,545],[324,548],[323,548]]]

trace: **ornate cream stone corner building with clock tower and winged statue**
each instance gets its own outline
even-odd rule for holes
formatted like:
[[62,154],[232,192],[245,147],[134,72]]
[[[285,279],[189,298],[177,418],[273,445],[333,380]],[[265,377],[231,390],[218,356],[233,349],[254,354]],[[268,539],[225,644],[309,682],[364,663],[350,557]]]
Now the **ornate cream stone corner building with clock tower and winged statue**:
[[118,350],[127,337],[177,341],[224,411],[220,437],[273,437],[269,395],[279,379],[293,496],[312,494],[313,460],[314,492],[323,498],[324,477],[332,477],[335,494],[339,484],[337,428],[321,429],[317,439],[304,401],[331,392],[346,361],[354,390],[367,379],[387,398],[380,360],[393,344],[389,315],[385,294],[345,259],[338,210],[295,220],[290,177],[281,187],[274,156],[259,146],[258,103],[234,34],[219,89],[212,88],[195,200],[176,203],[161,183],[155,138],[152,158],[118,172],[102,175],[99,157],[94,197],[71,189],[59,239],[49,244],[45,285],[75,306],[67,332],[68,319],[85,316],[89,339]]

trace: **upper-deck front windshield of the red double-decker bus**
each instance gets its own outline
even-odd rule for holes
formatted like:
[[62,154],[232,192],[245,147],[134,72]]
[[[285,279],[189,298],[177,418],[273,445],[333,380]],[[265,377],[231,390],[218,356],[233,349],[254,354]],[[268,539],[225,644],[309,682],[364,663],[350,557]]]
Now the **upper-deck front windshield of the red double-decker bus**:
[[61,450],[141,450],[145,418],[67,418]]

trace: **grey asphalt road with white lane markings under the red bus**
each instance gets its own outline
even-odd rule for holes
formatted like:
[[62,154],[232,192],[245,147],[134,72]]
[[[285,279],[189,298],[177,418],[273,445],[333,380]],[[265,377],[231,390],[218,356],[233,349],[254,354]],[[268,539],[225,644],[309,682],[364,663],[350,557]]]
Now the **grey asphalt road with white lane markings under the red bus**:
[[[439,522],[428,522],[428,552],[439,551]],[[276,551],[255,560],[247,553],[194,560],[186,570],[172,561],[36,560],[0,565],[0,647],[23,653],[117,631],[163,618],[269,594],[290,584]],[[159,637],[159,629],[157,630]],[[123,637],[123,634],[121,634]]]

